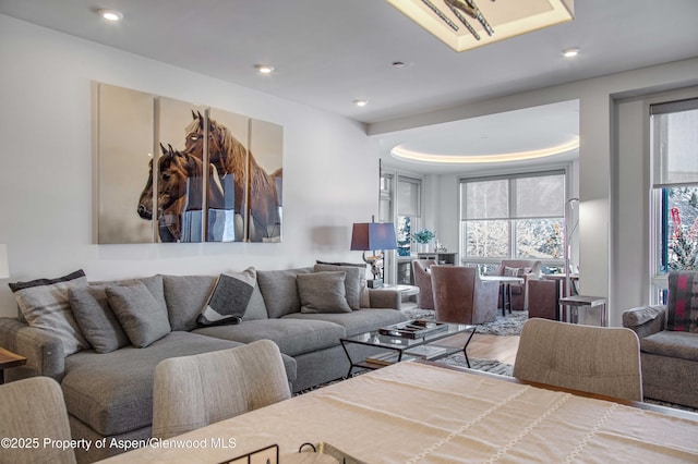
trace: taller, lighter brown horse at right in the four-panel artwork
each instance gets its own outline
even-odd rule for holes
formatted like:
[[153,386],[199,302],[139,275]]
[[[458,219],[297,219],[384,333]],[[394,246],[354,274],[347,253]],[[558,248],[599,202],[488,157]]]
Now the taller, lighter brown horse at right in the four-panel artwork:
[[[193,121],[186,127],[184,152],[203,159],[204,117],[192,111]],[[234,182],[234,209],[243,213],[245,208],[245,187],[249,184],[250,241],[262,242],[263,239],[280,236],[281,218],[279,216],[281,169],[267,174],[254,156],[232,136],[228,127],[208,119],[208,161],[218,169],[221,175],[232,174]],[[248,169],[249,167],[249,169]],[[248,182],[246,173],[250,173]]]

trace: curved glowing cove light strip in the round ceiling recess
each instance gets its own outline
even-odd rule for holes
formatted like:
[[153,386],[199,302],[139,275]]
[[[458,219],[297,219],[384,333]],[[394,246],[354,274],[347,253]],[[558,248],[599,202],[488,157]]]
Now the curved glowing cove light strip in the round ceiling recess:
[[579,148],[579,137],[554,147],[541,148],[529,151],[515,151],[498,155],[433,155],[408,150],[401,147],[395,147],[390,150],[390,155],[406,161],[419,161],[440,164],[471,164],[471,163],[489,163],[489,162],[508,162],[508,161],[526,161],[529,159],[544,158],[554,155],[561,155]]

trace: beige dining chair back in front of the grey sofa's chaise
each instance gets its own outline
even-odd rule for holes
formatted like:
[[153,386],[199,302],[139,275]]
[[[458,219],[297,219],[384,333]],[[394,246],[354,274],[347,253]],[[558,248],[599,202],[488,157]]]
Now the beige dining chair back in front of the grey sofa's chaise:
[[155,368],[153,437],[166,439],[291,398],[278,346],[258,340]]

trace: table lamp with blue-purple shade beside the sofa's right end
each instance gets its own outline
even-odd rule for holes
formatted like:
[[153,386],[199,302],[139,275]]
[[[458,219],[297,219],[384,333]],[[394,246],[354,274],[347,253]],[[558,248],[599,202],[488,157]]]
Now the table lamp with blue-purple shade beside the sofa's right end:
[[[371,265],[373,280],[368,281],[371,289],[383,286],[383,251],[396,249],[395,225],[393,222],[356,222],[351,232],[351,251],[363,252],[363,260]],[[373,252],[373,256],[366,256]]]

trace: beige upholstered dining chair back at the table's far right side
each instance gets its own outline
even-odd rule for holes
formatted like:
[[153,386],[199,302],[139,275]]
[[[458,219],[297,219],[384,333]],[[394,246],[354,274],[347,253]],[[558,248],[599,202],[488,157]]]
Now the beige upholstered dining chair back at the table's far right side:
[[514,377],[642,401],[640,343],[626,328],[529,319],[521,329]]

